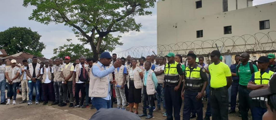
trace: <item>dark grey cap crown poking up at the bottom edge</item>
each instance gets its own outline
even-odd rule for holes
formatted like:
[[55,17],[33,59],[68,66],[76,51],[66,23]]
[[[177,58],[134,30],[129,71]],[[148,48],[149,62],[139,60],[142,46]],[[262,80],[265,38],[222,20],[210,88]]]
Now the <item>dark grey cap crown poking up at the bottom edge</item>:
[[101,108],[89,120],[140,120],[138,115],[118,108]]

